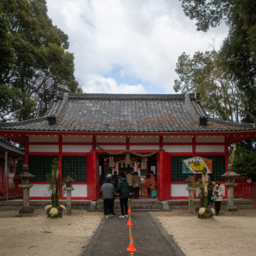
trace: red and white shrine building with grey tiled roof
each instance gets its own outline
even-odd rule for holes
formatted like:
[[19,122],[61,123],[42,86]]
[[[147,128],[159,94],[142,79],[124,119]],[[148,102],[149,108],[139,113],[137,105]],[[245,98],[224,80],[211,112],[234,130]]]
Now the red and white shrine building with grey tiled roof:
[[[101,177],[127,170],[142,180],[156,173],[159,200],[187,199],[183,159],[211,159],[212,179],[224,183],[228,146],[256,136],[254,124],[210,118],[198,99],[199,93],[54,92],[44,116],[1,123],[0,136],[25,148],[26,164],[35,175],[31,199],[49,198],[45,175],[54,158],[61,177],[75,180],[73,199],[99,199]],[[147,196],[143,182],[140,196]]]

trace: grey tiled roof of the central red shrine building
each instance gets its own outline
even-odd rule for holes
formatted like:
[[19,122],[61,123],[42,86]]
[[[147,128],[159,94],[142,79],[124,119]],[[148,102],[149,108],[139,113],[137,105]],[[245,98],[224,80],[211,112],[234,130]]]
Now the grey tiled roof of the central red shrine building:
[[[1,123],[0,130],[71,132],[226,132],[255,131],[253,124],[208,118],[199,93],[55,93],[45,116]],[[204,123],[206,122],[206,123]]]

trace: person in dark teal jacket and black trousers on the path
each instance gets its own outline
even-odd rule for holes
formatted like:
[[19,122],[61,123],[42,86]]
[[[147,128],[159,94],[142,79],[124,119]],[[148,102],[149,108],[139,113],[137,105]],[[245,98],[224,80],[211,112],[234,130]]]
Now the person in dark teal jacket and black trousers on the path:
[[127,214],[128,198],[130,195],[130,191],[129,191],[129,184],[126,181],[125,175],[122,175],[122,173],[120,174],[121,176],[117,184],[117,191],[120,196],[120,208],[121,208],[121,215],[119,216],[119,218],[125,218],[125,217],[128,217],[128,214]]

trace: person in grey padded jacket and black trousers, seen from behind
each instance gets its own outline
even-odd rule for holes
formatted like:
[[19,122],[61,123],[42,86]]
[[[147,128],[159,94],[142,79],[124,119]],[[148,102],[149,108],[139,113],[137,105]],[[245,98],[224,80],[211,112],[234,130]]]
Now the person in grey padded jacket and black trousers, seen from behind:
[[111,183],[111,179],[107,178],[106,182],[102,184],[100,192],[103,196],[104,214],[106,219],[114,216],[113,197],[115,193],[114,185]]

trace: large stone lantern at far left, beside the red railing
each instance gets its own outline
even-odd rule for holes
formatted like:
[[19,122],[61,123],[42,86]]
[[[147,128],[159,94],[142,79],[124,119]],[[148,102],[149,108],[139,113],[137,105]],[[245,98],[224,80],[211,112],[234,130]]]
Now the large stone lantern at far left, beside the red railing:
[[33,187],[33,184],[30,184],[30,178],[35,177],[29,173],[28,165],[24,164],[22,168],[22,173],[20,173],[21,184],[19,188],[22,188],[23,194],[23,207],[19,210],[19,216],[31,216],[34,215],[34,209],[29,205],[29,189]]

